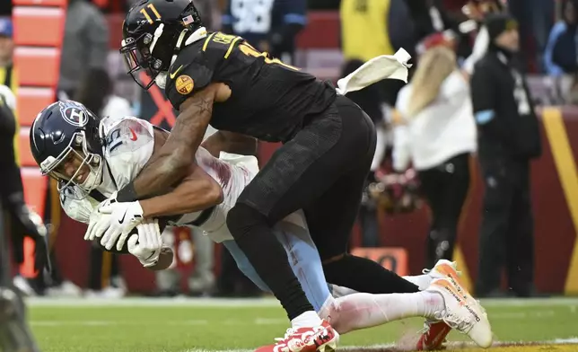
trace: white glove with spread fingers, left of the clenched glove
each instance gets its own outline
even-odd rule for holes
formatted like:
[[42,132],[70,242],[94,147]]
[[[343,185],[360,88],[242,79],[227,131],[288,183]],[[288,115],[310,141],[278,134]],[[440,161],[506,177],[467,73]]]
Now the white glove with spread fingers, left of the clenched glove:
[[[143,221],[143,208],[138,201],[118,203],[117,194],[105,200],[91,215],[84,239],[92,241],[101,237],[101,245],[110,250],[115,243],[120,251],[130,233]],[[96,214],[94,214],[96,213]],[[122,236],[121,241],[118,241]]]

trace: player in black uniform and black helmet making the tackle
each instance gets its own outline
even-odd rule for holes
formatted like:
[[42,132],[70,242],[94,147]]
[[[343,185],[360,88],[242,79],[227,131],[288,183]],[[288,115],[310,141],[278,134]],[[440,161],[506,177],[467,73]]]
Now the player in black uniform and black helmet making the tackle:
[[[270,226],[302,208],[328,281],[336,285],[347,277],[348,286],[363,290],[367,281],[359,273],[383,270],[346,254],[375,149],[371,119],[331,84],[240,37],[207,32],[191,0],[140,1],[127,13],[123,34],[129,74],[145,89],[164,88],[180,115],[159,156],[111,199],[118,207],[111,219],[99,221],[115,223],[119,232],[134,227],[140,219],[122,202],[167,191],[182,179],[209,123],[220,130],[204,142],[209,150],[248,138],[282,142],[232,207],[227,225],[292,321],[285,338],[263,350],[335,348],[337,333],[313,311]],[[146,76],[153,81],[143,84]]]

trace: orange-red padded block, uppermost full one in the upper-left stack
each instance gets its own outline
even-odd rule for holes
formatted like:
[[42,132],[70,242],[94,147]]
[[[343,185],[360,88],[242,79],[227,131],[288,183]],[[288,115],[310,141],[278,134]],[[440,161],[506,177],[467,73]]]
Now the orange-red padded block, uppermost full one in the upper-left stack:
[[15,7],[14,43],[22,46],[59,47],[62,44],[65,20],[65,11],[57,7]]

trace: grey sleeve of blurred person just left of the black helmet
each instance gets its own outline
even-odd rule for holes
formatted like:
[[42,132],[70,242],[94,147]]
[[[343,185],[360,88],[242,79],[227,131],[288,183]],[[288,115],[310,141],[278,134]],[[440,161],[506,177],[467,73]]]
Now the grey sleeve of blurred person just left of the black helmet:
[[95,9],[88,17],[85,31],[88,38],[87,66],[91,68],[104,68],[107,66],[109,56],[109,26],[102,13]]

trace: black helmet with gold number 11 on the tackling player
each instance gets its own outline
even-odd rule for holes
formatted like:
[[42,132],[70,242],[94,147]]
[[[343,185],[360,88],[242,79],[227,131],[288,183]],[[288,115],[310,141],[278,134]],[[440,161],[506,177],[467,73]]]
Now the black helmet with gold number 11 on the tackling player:
[[[154,78],[171,66],[188,34],[203,27],[192,0],[142,0],[127,13],[122,23],[124,55],[128,74],[136,84],[148,89]],[[142,84],[138,73],[144,70],[151,83]]]

